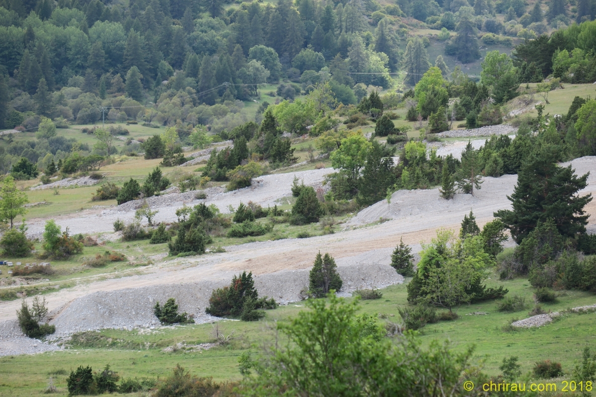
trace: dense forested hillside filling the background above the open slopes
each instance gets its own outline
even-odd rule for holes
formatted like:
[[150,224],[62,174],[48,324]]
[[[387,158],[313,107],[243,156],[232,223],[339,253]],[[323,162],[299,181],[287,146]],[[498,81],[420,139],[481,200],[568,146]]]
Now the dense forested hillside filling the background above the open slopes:
[[[420,128],[426,120],[424,128],[434,133],[455,127],[454,120],[467,127],[501,123],[501,105],[530,93],[520,83],[551,77],[530,89],[548,95],[560,83],[596,79],[593,0],[381,3],[2,0],[0,127],[36,132],[37,139],[3,136],[0,170],[20,164],[16,177],[36,177],[33,165],[45,170],[71,155],[105,158],[117,151],[56,131],[69,124],[175,126],[176,147],[193,143],[197,126],[221,140],[244,126],[253,129],[250,140],[254,127],[247,123],[260,123],[271,104],[276,131],[316,136],[337,130],[344,118],[348,130],[377,123],[378,105],[355,106],[383,92],[381,107],[408,110],[407,120],[420,121]],[[486,52],[514,43],[512,57]],[[429,59],[437,48],[442,54]],[[482,73],[468,79],[462,70],[480,61]],[[456,65],[453,71],[448,64]],[[273,89],[271,99],[263,98],[263,85]],[[254,102],[258,109],[247,110]],[[388,118],[380,122],[381,135],[405,133]],[[126,132],[112,128],[109,135],[119,133]],[[123,154],[147,151],[129,143]],[[267,159],[267,145],[249,145],[249,154]],[[274,154],[280,164],[292,158],[288,151]],[[79,160],[61,171],[93,168]]]

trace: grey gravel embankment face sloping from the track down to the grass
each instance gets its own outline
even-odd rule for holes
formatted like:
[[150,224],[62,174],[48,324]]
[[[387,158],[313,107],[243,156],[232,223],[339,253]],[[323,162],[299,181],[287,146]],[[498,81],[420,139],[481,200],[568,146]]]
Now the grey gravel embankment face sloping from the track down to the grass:
[[[403,277],[392,267],[374,262],[387,262],[390,255],[387,250],[377,251],[337,260],[338,271],[344,282],[342,292],[378,289],[403,282]],[[309,268],[305,268],[258,275],[254,277],[254,286],[259,291],[259,296],[273,297],[280,304],[300,301],[302,290],[308,286],[309,271]],[[49,323],[56,327],[56,332],[50,338],[56,340],[76,332],[105,328],[133,330],[160,326],[153,308],[156,302],[164,304],[168,298],[176,298],[179,310],[188,312],[195,323],[218,321],[218,317],[206,314],[205,308],[209,305],[213,289],[229,285],[231,274],[226,273],[226,276],[183,284],[89,293],[49,312]],[[3,338],[0,339],[0,355],[29,354],[57,348],[48,343],[22,337],[15,319],[0,323],[0,335]],[[15,341],[14,346],[9,343],[12,340]],[[5,349],[4,346],[8,345],[13,348]]]

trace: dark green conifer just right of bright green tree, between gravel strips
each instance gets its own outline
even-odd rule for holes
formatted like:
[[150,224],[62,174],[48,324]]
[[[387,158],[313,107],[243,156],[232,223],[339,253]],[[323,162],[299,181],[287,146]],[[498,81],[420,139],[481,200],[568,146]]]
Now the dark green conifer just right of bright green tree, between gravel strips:
[[[389,120],[391,121],[391,120]],[[393,121],[391,121],[393,124]],[[377,140],[371,140],[367,161],[362,168],[362,177],[358,180],[359,205],[367,206],[382,201],[387,195],[387,189],[395,185],[393,160],[389,157],[387,146]]]

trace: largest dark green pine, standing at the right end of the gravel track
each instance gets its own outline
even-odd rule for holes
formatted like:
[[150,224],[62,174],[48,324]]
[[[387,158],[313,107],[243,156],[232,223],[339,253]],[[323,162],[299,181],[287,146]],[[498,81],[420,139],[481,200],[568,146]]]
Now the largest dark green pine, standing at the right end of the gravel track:
[[586,231],[589,215],[584,207],[592,196],[579,196],[578,192],[587,186],[588,174],[578,177],[571,165],[559,167],[556,160],[557,152],[548,145],[530,154],[517,174],[513,194],[507,197],[513,210],[495,212],[518,244],[538,221],[548,219],[554,220],[558,232],[566,237]]

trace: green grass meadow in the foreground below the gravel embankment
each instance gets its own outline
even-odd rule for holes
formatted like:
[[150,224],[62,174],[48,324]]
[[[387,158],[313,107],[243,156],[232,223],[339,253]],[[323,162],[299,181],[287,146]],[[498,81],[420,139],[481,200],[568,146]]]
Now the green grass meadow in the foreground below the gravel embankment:
[[[533,289],[526,279],[514,279],[504,282],[492,276],[489,286],[503,285],[509,289],[508,296],[520,295],[532,304]],[[406,284],[395,285],[381,290],[383,298],[362,301],[360,312],[382,314],[387,320],[399,322],[398,307],[406,305]],[[554,304],[542,304],[544,310],[564,311],[567,308],[596,303],[593,294],[578,291],[561,291]],[[563,314],[551,324],[535,329],[522,329],[504,332],[502,327],[512,318],[526,318],[524,311],[515,313],[496,310],[498,301],[462,306],[457,312],[460,317],[455,321],[442,321],[429,324],[420,332],[424,346],[432,340],[449,339],[456,351],[464,351],[467,346],[476,345],[476,358],[486,358],[485,372],[489,375],[500,373],[498,367],[504,357],[516,355],[522,365],[522,373],[530,371],[536,361],[554,360],[561,362],[563,371],[569,374],[575,362],[581,359],[585,346],[596,343],[596,313]],[[263,343],[274,343],[275,333],[272,327],[275,321],[285,322],[303,310],[303,304],[297,302],[282,306],[277,310],[267,311],[262,321],[220,321],[219,330],[226,335],[234,332],[234,339],[227,346],[216,346],[205,351],[164,352],[167,346],[185,342],[187,345],[211,343],[212,324],[191,324],[151,330],[151,332],[132,332],[120,330],[102,330],[77,334],[66,351],[48,352],[38,355],[20,355],[0,358],[0,371],[3,379],[0,383],[1,395],[31,396],[43,392],[48,380],[48,371],[64,370],[64,374],[55,374],[54,384],[58,387],[57,396],[66,395],[66,377],[70,370],[79,365],[91,365],[94,370],[109,363],[121,377],[164,377],[176,364],[197,376],[212,376],[216,381],[238,380],[238,357],[248,349],[258,352]],[[488,315],[466,315],[473,312],[486,312]],[[147,332],[147,333],[145,333]],[[48,368],[48,360],[52,367]],[[561,386],[560,383],[558,386]]]

